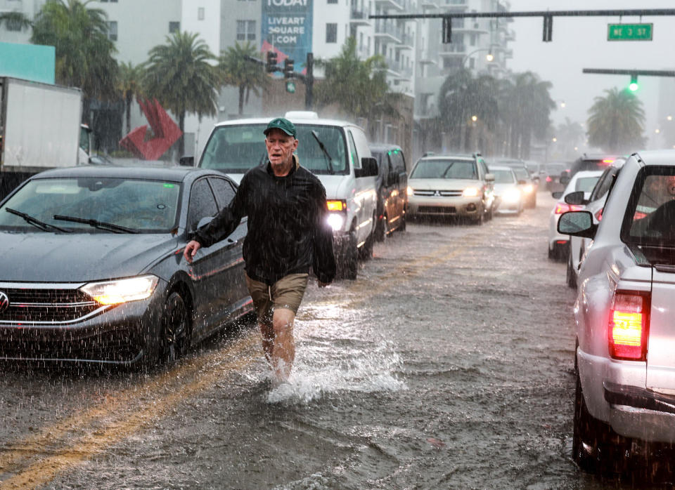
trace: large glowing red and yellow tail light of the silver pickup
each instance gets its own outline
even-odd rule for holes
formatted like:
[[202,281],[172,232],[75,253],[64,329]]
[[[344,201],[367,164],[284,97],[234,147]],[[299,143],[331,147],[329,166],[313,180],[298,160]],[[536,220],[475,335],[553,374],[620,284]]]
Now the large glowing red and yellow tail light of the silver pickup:
[[610,357],[645,361],[649,329],[648,293],[617,291],[610,310]]

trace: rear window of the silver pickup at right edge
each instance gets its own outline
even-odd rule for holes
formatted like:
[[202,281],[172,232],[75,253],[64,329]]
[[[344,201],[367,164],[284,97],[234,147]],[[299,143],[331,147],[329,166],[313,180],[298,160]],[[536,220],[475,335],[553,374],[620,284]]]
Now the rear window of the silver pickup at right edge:
[[646,168],[638,176],[623,230],[627,243],[675,248],[674,167]]

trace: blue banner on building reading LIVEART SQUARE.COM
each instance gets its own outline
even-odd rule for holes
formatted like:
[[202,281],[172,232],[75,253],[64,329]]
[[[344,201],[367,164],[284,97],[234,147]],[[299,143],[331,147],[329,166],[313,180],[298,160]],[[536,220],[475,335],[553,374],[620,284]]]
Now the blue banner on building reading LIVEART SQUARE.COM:
[[262,52],[274,50],[277,60],[293,60],[296,72],[305,72],[311,52],[314,0],[262,0]]

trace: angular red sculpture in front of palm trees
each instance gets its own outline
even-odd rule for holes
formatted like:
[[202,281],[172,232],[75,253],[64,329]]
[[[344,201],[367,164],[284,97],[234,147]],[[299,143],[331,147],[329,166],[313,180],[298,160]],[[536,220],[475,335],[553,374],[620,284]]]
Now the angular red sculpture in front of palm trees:
[[153,99],[153,102],[139,100],[139,105],[143,114],[146,114],[150,128],[153,128],[155,138],[146,141],[148,126],[139,126],[120,140],[120,146],[141,159],[157,160],[183,133],[157,99]]

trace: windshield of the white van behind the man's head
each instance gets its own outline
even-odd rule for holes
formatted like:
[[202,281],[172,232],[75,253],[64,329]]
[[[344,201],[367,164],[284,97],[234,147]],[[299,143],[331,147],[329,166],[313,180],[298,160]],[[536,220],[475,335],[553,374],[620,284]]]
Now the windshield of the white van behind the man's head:
[[[199,166],[225,173],[246,173],[266,161],[263,134],[266,127],[266,124],[241,124],[216,128],[206,144]],[[295,128],[298,140],[296,154],[304,168],[316,174],[349,173],[347,144],[342,128],[319,124],[296,124]],[[326,152],[321,150],[312,131],[316,132]],[[326,153],[330,155],[330,165]]]

